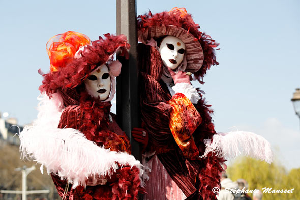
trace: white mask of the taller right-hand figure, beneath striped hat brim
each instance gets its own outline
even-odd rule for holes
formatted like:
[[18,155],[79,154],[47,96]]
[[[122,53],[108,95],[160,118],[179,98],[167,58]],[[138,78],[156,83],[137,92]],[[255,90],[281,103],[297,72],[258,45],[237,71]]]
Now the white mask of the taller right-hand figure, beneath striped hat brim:
[[176,69],[184,59],[186,45],[174,36],[165,37],[160,44],[160,56],[163,64],[172,70]]

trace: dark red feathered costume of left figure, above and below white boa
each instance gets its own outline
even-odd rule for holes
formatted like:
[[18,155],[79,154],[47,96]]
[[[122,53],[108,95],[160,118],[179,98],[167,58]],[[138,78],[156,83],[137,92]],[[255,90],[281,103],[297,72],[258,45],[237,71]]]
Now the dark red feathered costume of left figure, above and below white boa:
[[[70,90],[68,90],[70,91]],[[69,101],[73,99],[66,92],[61,92]],[[72,95],[75,96],[75,91]],[[114,114],[110,113],[110,102],[100,102],[93,99],[85,91],[81,91],[79,105],[66,105],[61,115],[58,128],[74,128],[86,136],[88,140],[95,142],[98,146],[104,146],[111,151],[131,153],[131,146],[126,134],[119,128],[114,120]],[[78,101],[78,99],[77,99]],[[76,102],[73,99],[71,102]],[[67,104],[66,101],[64,101]],[[113,116],[109,119],[109,115]],[[78,147],[80,148],[80,147]],[[93,152],[91,152],[93,154]],[[72,162],[72,160],[70,160]],[[61,180],[58,175],[51,174],[52,180],[61,197],[63,197],[67,181]],[[77,186],[75,189],[69,187],[67,198],[75,199],[137,199],[138,191],[141,191],[139,169],[135,166],[123,166],[117,170],[105,185]]]

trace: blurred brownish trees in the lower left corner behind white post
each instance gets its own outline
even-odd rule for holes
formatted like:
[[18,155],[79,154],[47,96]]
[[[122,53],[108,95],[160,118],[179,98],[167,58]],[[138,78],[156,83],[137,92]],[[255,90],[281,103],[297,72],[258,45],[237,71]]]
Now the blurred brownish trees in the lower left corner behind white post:
[[[1,190],[22,190],[22,173],[15,171],[18,167],[31,167],[36,165],[35,162],[20,159],[21,155],[19,148],[14,145],[6,144],[1,141],[0,144],[0,188]],[[35,166],[36,170],[29,173],[27,176],[27,190],[50,190],[49,194],[29,194],[28,199],[35,198],[46,198],[46,199],[57,199],[58,193],[52,182],[51,177],[40,172],[39,167]],[[7,199],[7,197],[12,197],[13,199],[20,199],[20,195],[9,195],[3,194],[2,197]]]

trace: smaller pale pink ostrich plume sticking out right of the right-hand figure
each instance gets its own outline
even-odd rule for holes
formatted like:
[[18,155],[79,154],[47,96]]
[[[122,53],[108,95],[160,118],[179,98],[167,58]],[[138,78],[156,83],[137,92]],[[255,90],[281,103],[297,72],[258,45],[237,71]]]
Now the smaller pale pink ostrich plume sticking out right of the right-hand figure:
[[250,156],[271,163],[273,154],[269,142],[260,135],[246,131],[218,133],[212,139],[204,139],[206,157],[213,152],[218,157],[233,159],[239,155]]

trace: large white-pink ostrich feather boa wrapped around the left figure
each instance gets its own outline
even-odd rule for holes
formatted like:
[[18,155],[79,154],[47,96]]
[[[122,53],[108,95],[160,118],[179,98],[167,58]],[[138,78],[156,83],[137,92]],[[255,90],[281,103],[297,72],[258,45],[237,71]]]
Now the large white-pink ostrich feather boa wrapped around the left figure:
[[38,99],[38,119],[20,133],[22,158],[41,164],[42,173],[45,166],[48,174],[55,173],[68,180],[73,188],[85,187],[88,177],[111,175],[118,168],[116,162],[121,166],[138,167],[141,179],[143,166],[132,155],[98,147],[73,128],[57,128],[63,111],[59,95],[49,99],[43,94]]

